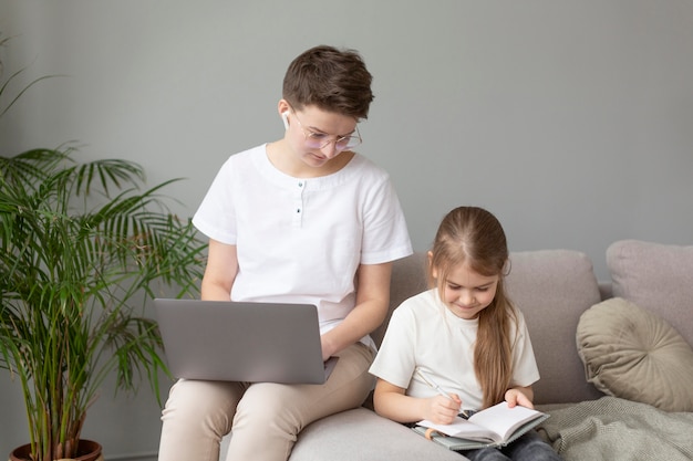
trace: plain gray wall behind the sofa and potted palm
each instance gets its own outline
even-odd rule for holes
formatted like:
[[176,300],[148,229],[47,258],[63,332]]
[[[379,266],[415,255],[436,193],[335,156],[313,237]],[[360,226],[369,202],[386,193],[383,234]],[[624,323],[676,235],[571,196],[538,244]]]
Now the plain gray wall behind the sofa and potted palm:
[[[9,70],[46,81],[0,121],[6,155],[75,139],[139,161],[190,214],[228,155],[282,134],[293,56],[362,52],[375,102],[361,153],[386,168],[414,245],[463,205],[494,211],[514,251],[693,243],[690,0],[1,0]],[[0,453],[25,441],[0,374]],[[104,390],[86,436],[107,458],[158,443],[149,392]],[[0,454],[2,455],[2,454]]]

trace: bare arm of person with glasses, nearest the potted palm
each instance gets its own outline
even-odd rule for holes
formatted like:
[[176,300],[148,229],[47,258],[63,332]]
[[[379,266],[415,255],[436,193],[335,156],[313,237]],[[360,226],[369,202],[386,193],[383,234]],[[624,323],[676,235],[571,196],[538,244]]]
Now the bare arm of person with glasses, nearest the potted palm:
[[201,298],[206,301],[229,301],[237,273],[236,245],[209,239],[207,266],[205,268],[201,283]]

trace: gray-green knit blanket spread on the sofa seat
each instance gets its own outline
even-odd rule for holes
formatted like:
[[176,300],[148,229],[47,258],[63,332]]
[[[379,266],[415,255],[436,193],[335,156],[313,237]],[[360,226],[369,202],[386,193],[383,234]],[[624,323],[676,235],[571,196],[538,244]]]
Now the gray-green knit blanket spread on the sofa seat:
[[693,460],[693,412],[616,397],[546,411],[539,432],[566,461]]

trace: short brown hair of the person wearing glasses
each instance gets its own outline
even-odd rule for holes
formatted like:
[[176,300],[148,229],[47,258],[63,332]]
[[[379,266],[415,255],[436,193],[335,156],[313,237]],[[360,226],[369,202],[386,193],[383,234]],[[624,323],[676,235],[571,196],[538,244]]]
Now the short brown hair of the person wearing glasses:
[[282,96],[297,111],[314,105],[356,119],[368,118],[372,80],[356,51],[319,45],[291,62]]

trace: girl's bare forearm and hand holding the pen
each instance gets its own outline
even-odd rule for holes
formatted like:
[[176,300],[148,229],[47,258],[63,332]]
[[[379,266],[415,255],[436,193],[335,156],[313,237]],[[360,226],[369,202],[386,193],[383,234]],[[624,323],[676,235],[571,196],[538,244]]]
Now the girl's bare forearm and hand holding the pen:
[[379,378],[373,394],[375,412],[397,422],[427,419],[437,425],[449,425],[459,412],[462,401],[456,394],[451,394],[451,398],[417,398],[406,396],[404,391],[405,389]]

